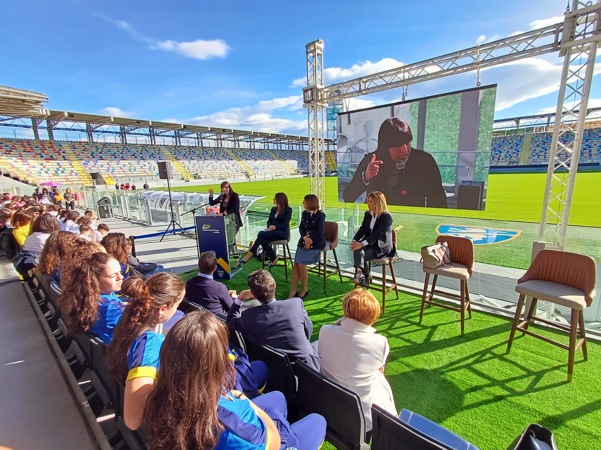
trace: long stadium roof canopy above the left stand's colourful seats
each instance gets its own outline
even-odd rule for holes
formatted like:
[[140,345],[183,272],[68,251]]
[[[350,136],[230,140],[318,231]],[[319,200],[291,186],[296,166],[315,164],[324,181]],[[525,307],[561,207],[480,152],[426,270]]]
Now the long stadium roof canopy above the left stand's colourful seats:
[[[33,128],[36,139],[39,139],[38,127],[43,127],[52,140],[53,131],[61,130],[87,133],[89,141],[95,140],[94,134],[115,134],[120,136],[121,142],[127,143],[127,135],[137,134],[149,137],[151,143],[156,143],[157,136],[171,137],[175,145],[181,145],[182,138],[194,139],[198,145],[203,145],[203,140],[213,141],[217,146],[228,141],[233,143],[234,148],[239,147],[240,142],[249,143],[249,148],[255,148],[255,145],[308,145],[307,136],[47,110],[41,106],[42,101],[48,101],[44,94],[0,86],[0,123]],[[18,120],[25,118],[31,118],[32,124]],[[42,124],[44,121],[45,126]],[[332,139],[326,139],[326,145],[333,143]]]

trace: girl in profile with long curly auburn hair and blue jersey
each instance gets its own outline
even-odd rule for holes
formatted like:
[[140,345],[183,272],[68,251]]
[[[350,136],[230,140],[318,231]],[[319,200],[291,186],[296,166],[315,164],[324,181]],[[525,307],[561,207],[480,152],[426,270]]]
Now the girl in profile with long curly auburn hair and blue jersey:
[[108,344],[124,309],[115,295],[122,282],[119,262],[106,253],[69,260],[58,297],[69,334],[90,330]]

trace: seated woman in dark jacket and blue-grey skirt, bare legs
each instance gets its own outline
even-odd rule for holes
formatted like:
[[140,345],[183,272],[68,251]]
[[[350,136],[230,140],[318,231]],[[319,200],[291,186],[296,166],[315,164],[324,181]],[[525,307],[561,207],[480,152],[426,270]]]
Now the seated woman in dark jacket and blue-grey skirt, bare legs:
[[[305,298],[309,293],[307,280],[309,272],[307,265],[319,262],[321,252],[326,247],[326,214],[319,209],[319,199],[313,194],[305,196],[305,211],[302,213],[299,224],[299,239],[296,254],[294,254],[294,267],[292,269],[292,283],[288,298]],[[301,280],[301,290],[296,290],[296,285]]]

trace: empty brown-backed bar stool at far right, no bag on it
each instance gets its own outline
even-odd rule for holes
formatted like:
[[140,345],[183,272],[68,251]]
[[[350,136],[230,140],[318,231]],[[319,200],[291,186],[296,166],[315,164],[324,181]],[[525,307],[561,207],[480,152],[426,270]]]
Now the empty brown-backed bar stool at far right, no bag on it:
[[[522,335],[529,334],[554,344],[568,351],[567,381],[571,382],[574,355],[581,347],[584,361],[587,361],[587,337],[584,333],[583,310],[591,305],[595,296],[595,272],[595,261],[590,256],[560,250],[541,250],[528,271],[517,280],[516,292],[520,296],[517,301],[516,314],[513,317],[513,325],[511,325],[507,353],[511,350],[517,330],[521,331]],[[532,297],[532,303],[523,322],[518,325],[526,295]],[[538,300],[570,308],[570,325],[536,316]],[[532,320],[568,331],[570,333],[569,344],[562,344],[530,331],[528,325]],[[576,342],[578,334],[580,340]]]

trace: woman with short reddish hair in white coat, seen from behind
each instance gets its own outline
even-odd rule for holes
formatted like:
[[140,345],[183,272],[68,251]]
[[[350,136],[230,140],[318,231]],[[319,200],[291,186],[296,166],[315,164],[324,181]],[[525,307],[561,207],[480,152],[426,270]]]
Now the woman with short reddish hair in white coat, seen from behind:
[[388,339],[371,326],[380,317],[380,302],[371,292],[352,290],[344,297],[342,308],[344,317],[319,331],[320,370],[361,397],[368,431],[372,404],[397,415],[392,389],[384,376],[390,348]]

